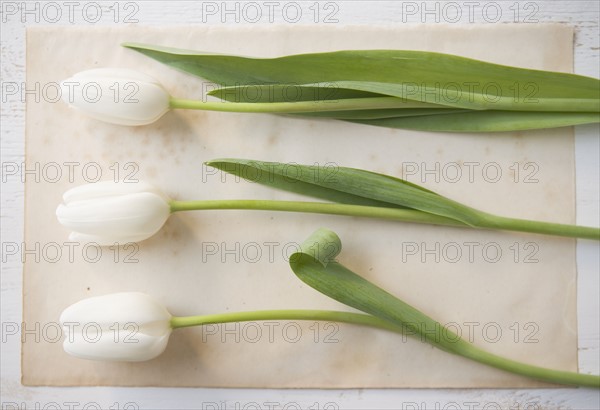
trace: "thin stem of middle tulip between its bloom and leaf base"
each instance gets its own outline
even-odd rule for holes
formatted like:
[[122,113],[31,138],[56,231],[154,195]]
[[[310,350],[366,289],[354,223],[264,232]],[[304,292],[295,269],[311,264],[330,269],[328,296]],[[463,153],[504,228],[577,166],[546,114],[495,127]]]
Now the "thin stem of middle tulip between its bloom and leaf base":
[[171,212],[215,209],[246,209],[358,216],[434,225],[466,226],[465,224],[455,221],[454,219],[445,218],[443,216],[438,216],[427,212],[416,211],[413,209],[332,204],[325,202],[223,199],[206,201],[171,201],[170,206]]

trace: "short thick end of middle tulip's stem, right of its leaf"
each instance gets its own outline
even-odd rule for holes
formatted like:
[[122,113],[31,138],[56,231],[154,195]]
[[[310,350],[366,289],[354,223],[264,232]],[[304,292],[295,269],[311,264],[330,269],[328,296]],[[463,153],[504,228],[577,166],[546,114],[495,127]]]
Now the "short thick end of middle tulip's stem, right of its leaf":
[[482,213],[482,215],[483,218],[478,224],[478,226],[481,228],[533,232],[544,235],[600,240],[600,228],[557,224],[552,222],[530,221],[527,219],[506,218],[487,213]]

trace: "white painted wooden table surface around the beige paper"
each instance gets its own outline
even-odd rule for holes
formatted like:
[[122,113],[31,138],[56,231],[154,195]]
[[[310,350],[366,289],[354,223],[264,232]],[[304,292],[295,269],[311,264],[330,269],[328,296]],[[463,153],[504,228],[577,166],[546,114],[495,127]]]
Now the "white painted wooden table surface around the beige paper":
[[[576,28],[575,72],[600,72],[597,1],[2,1],[1,135],[2,409],[599,409],[600,393],[544,390],[242,390],[30,388],[20,383],[21,271],[10,247],[23,240],[23,183],[10,170],[24,160],[25,29],[28,25],[165,24],[536,24]],[[15,94],[14,87],[18,93]],[[576,128],[577,223],[600,224],[597,125]],[[579,241],[580,371],[600,372],[598,244]],[[243,369],[240,369],[243,371]]]

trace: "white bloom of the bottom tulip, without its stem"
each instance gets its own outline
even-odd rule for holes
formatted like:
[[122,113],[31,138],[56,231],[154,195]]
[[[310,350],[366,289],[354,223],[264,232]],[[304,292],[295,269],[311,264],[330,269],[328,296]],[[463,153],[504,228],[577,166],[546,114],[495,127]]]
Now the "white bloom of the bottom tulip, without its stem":
[[148,295],[114,293],[81,300],[60,316],[68,354],[89,360],[141,362],[167,347],[171,314]]

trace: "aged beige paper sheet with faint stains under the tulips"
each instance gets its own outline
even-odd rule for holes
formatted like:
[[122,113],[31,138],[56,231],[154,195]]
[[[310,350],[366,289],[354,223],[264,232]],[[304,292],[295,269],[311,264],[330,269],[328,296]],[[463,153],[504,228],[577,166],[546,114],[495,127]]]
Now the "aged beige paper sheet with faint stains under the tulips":
[[[27,83],[59,82],[84,69],[114,66],[155,76],[178,97],[202,95],[201,80],[122,49],[119,44],[123,41],[252,56],[405,48],[531,68],[570,71],[572,66],[572,31],[558,25],[61,27],[28,30]],[[87,165],[91,178],[98,167],[102,179],[112,179],[115,168],[121,177],[137,170],[135,178],[150,181],[177,199],[293,197],[231,177],[223,183],[223,175],[212,175],[202,166],[202,161],[212,158],[245,157],[331,162],[400,177],[414,163],[421,171],[438,163],[439,181],[421,173],[405,177],[488,212],[572,223],[574,146],[570,128],[430,134],[328,120],[191,111],[171,112],[153,125],[127,128],[85,118],[61,102],[42,100],[27,104],[26,151],[28,168],[39,164],[42,173],[44,167],[50,172],[48,164],[56,163],[62,175],[56,182],[49,181],[51,175],[39,182],[28,177],[26,183],[26,246],[38,246],[41,257],[36,261],[26,255],[24,321],[29,328],[39,323],[46,337],[28,337],[23,343],[24,384],[257,388],[539,385],[416,340],[348,325],[253,324],[238,328],[239,340],[224,329],[210,329],[216,335],[206,329],[183,329],[174,332],[162,356],[132,364],[72,358],[54,337],[56,322],[68,305],[119,291],[149,293],[174,315],[345,309],[302,284],[285,258],[295,244],[320,226],[333,229],[342,238],[344,250],[339,260],[346,266],[441,323],[453,324],[454,330],[458,326],[463,336],[472,335],[477,345],[531,364],[577,370],[573,240],[333,216],[206,211],[175,215],[158,235],[140,243],[137,251],[120,249],[115,254],[116,250],[104,248],[99,260],[90,263],[94,252],[87,249],[86,260],[82,245],[69,257],[65,245],[68,232],[54,217],[62,193],[85,182],[83,169],[89,163],[98,164]],[[66,165],[70,162],[76,163],[72,180]],[[128,165],[131,162],[135,166]],[[472,180],[465,165],[468,162],[479,164],[471,165],[475,167]],[[463,176],[458,181],[453,182],[453,166],[444,173],[449,163],[462,164]],[[496,165],[488,165],[491,163]],[[498,182],[483,178],[485,165],[501,169]],[[523,179],[532,172],[537,182],[525,183]],[[468,245],[471,243],[474,245]],[[52,251],[48,244],[62,249],[56,262],[49,260],[51,253],[44,257],[44,249]],[[424,252],[438,246],[440,260],[425,253],[423,263],[420,254],[409,255],[407,250],[415,244]],[[469,246],[475,249],[472,261]],[[462,256],[452,262],[457,247]],[[490,251],[487,261],[484,248]],[[515,262],[517,248],[520,252]],[[233,253],[227,251],[231,249]],[[495,262],[490,261],[496,259],[494,249],[502,252]],[[138,262],[125,263],[133,251]],[[534,261],[525,263],[532,251]],[[236,331],[233,325],[227,329]],[[499,338],[497,329],[502,332]],[[261,337],[256,337],[258,331]]]

